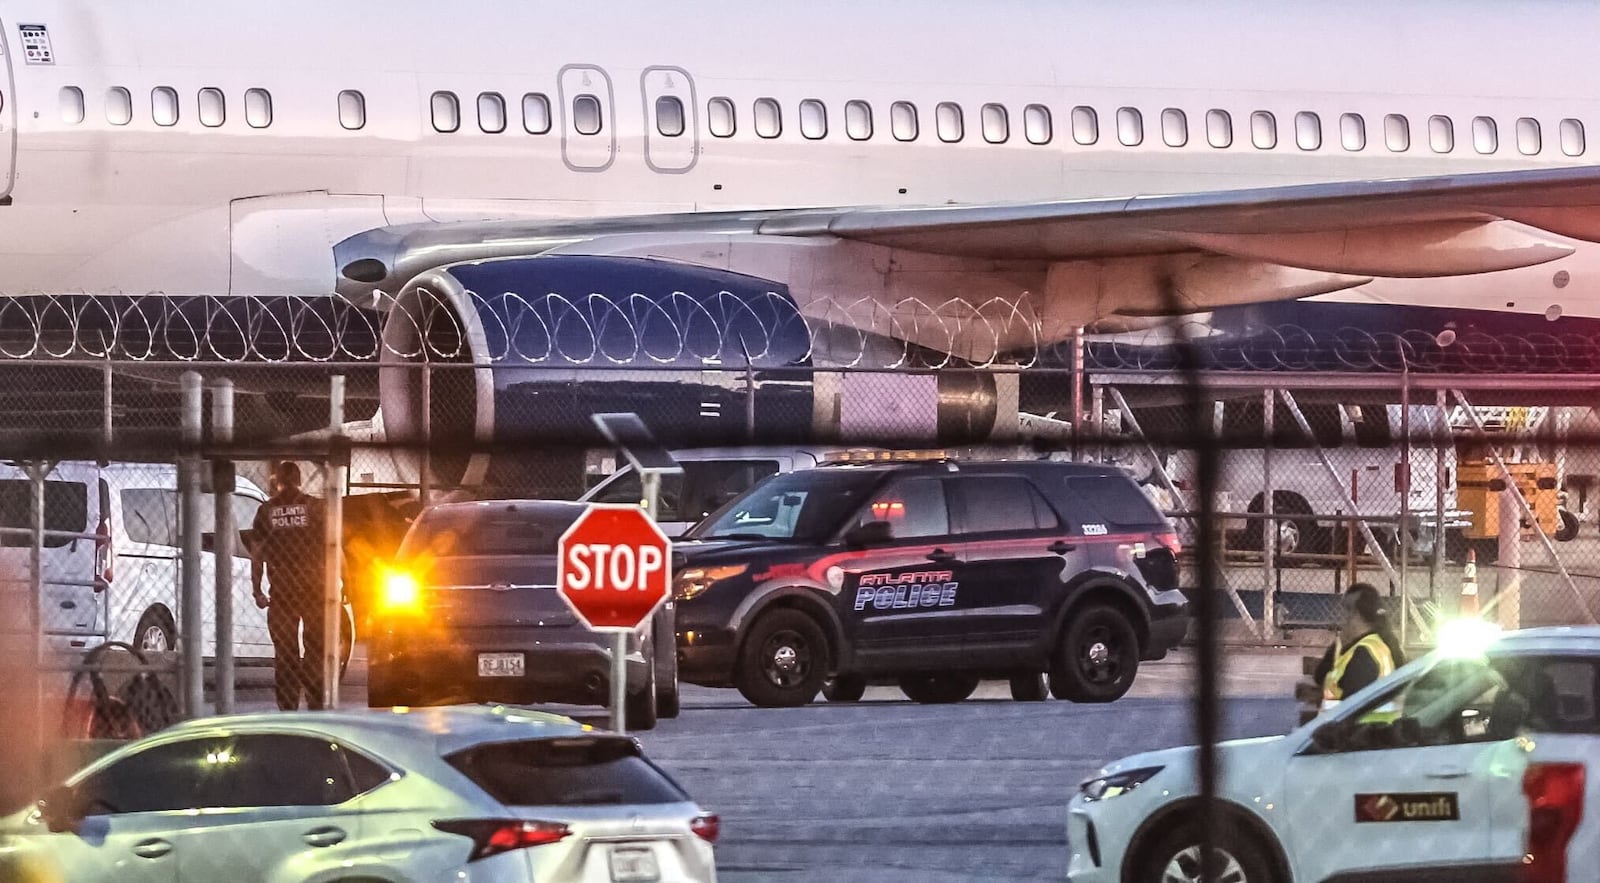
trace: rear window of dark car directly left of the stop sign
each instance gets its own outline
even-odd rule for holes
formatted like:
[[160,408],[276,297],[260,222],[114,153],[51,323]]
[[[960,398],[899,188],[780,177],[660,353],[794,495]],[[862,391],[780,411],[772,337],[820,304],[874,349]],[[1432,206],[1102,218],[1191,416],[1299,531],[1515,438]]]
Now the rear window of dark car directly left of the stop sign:
[[579,512],[576,505],[434,509],[418,518],[400,545],[400,557],[555,555],[562,533]]

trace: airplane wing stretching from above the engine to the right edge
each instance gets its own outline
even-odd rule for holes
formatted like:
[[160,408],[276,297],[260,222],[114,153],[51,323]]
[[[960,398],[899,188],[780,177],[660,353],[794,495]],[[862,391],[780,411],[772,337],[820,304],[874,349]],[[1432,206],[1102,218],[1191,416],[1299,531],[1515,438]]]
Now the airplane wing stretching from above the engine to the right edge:
[[728,234],[1046,264],[1189,253],[1358,282],[1464,275],[1555,261],[1573,251],[1568,238],[1600,242],[1600,166],[1003,205],[413,224],[350,237],[334,261],[341,293],[365,296],[458,261]]

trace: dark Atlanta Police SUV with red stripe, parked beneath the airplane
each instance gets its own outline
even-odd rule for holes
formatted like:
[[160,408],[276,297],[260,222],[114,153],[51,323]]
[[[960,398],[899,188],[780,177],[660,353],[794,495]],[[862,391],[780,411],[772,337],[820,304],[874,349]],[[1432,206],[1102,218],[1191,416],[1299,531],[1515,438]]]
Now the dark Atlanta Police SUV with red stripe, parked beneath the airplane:
[[[1178,537],[1120,470],[883,451],[774,475],[675,545],[678,673],[757,705],[890,680],[1109,702],[1187,630]],[[824,689],[826,681],[826,689]]]

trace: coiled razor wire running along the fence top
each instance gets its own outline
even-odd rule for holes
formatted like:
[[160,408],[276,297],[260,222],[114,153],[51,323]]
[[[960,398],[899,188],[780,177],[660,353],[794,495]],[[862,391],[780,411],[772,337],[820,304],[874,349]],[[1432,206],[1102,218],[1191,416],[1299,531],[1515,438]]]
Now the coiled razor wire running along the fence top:
[[[547,366],[1069,368],[1070,334],[1029,298],[925,301],[789,294],[451,298],[0,296],[3,362],[379,363]],[[1090,370],[1173,370],[1174,342],[1210,371],[1600,371],[1600,333],[1371,331],[1293,323],[1219,331],[1198,320],[1090,333]]]

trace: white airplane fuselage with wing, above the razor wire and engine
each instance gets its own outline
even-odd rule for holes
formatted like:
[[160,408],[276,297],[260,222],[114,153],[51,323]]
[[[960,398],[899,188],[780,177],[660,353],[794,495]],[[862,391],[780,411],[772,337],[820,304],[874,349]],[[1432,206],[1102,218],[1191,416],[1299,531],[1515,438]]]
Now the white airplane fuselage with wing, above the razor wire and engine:
[[963,358],[1310,296],[1594,317],[1595,34],[1576,0],[0,0],[0,293],[384,307],[632,258]]

